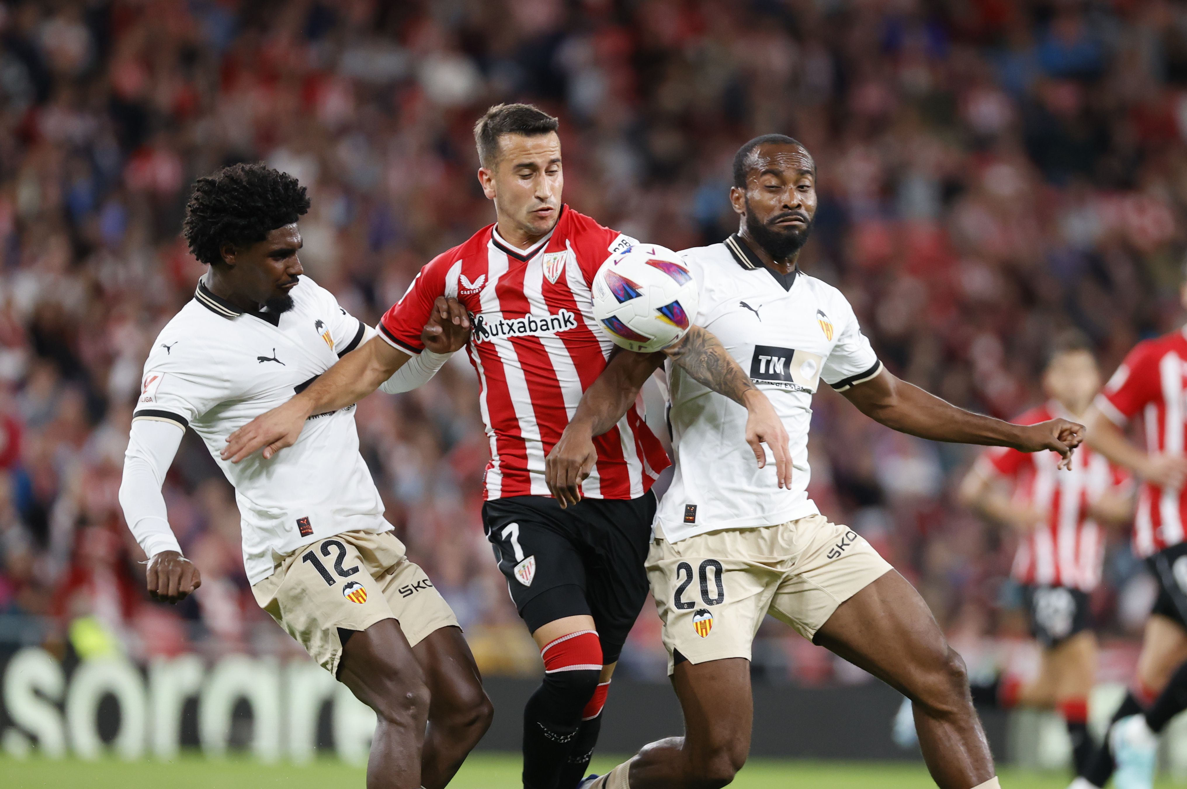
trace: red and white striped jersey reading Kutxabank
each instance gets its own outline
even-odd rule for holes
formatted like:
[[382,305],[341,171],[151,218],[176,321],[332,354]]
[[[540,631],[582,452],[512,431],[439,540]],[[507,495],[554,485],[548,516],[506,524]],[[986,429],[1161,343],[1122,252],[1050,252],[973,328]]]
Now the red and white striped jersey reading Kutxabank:
[[[419,354],[437,297],[455,297],[469,310],[466,351],[490,441],[488,500],[550,495],[544,459],[614,348],[594,318],[590,284],[607,257],[633,243],[567,205],[552,233],[527,250],[489,225],[421,268],[380,322],[380,336]],[[589,498],[637,498],[669,465],[643,421],[642,397],[594,444],[597,465],[582,486]]]

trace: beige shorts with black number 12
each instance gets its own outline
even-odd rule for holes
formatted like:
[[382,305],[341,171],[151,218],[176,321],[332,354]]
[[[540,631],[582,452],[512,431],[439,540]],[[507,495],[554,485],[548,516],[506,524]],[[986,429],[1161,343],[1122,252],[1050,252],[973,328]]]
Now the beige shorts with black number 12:
[[328,672],[338,675],[338,628],[366,630],[399,621],[415,647],[457,625],[449,603],[391,532],[343,532],[284,558],[252,587],[255,602]]

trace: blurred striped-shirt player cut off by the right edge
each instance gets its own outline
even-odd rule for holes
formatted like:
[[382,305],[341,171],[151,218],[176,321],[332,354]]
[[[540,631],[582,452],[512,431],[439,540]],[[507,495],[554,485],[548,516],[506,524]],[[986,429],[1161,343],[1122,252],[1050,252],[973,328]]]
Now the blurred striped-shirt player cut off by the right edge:
[[[1187,284],[1180,298],[1187,306]],[[1187,329],[1134,346],[1088,413],[1087,443],[1144,479],[1134,523],[1134,551],[1159,583],[1145,624],[1135,686],[1113,715],[1109,736],[1077,789],[1103,787],[1115,766],[1118,789],[1154,783],[1156,734],[1187,708],[1187,543],[1183,479],[1187,460]],[[1142,414],[1145,451],[1122,428]]]

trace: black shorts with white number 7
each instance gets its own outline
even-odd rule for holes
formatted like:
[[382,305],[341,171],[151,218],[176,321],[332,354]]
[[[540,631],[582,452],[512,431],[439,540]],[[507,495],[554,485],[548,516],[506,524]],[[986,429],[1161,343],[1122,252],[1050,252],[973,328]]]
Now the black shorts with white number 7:
[[592,616],[602,660],[618,660],[647,599],[647,551],[655,496],[583,498],[561,509],[547,496],[496,498],[482,524],[520,616],[533,632]]

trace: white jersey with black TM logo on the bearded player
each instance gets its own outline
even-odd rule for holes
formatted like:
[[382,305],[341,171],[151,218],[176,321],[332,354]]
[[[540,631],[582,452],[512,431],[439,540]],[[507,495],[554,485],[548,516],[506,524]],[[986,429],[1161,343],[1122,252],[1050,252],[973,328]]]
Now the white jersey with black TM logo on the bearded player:
[[770,451],[760,469],[745,443],[745,408],[668,361],[675,475],[656,523],[675,542],[815,515],[807,495],[812,395],[821,378],[844,392],[876,376],[882,363],[831,285],[804,273],[780,278],[736,235],[680,254],[700,286],[693,323],[711,331],[770,399],[791,437],[794,471],[792,486],[780,489]]

